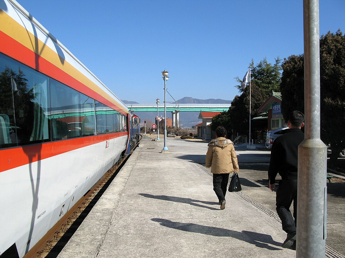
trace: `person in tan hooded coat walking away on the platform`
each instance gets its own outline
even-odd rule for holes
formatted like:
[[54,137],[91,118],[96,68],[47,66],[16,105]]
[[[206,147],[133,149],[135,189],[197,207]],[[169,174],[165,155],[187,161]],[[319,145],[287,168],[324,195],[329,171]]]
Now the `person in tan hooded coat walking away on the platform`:
[[226,139],[225,134],[224,126],[218,126],[216,129],[217,138],[208,143],[206,153],[206,168],[211,167],[213,190],[218,197],[220,209],[225,209],[229,173],[239,171],[234,143]]

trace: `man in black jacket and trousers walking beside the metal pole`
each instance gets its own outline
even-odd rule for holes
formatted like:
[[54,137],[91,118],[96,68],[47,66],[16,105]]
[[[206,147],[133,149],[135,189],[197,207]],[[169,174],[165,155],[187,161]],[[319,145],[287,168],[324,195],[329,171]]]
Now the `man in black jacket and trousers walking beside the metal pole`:
[[[298,145],[304,140],[304,133],[301,131],[303,121],[304,115],[301,112],[290,113],[287,122],[289,130],[273,142],[268,169],[271,191],[275,188],[277,173],[282,177],[276,195],[276,209],[282,220],[283,230],[287,233],[282,247],[292,249],[296,248]],[[294,217],[290,212],[292,201]]]

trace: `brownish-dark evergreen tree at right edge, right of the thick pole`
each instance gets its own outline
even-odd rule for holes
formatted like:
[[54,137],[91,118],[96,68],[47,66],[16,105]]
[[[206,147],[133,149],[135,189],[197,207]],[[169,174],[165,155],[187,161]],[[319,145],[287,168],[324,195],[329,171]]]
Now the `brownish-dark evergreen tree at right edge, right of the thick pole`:
[[345,34],[328,32],[320,40],[321,139],[331,143],[330,166],[345,149]]

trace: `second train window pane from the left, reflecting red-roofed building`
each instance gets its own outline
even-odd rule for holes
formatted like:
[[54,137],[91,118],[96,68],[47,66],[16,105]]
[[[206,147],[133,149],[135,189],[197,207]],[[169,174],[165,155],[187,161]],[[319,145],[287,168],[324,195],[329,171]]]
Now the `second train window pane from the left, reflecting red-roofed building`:
[[79,92],[54,79],[50,80],[51,131],[53,140],[81,136]]

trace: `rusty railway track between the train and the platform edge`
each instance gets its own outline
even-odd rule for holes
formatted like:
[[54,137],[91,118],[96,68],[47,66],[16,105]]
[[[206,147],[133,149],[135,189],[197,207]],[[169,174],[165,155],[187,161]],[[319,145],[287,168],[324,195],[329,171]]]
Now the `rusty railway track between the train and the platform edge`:
[[[140,140],[130,154],[139,145]],[[130,155],[121,159],[117,165],[108,170],[103,178],[23,258],[57,257],[129,157]]]

